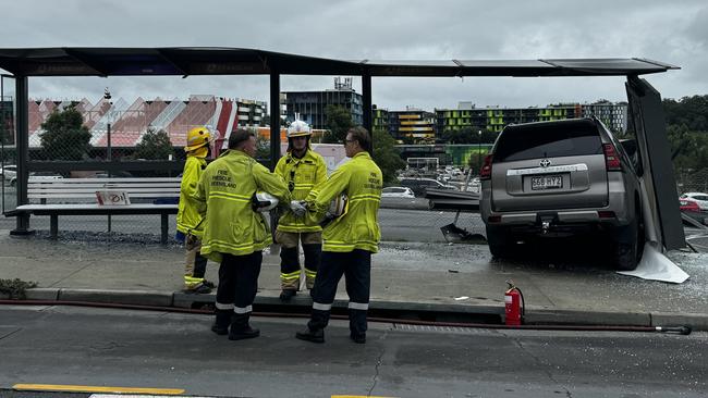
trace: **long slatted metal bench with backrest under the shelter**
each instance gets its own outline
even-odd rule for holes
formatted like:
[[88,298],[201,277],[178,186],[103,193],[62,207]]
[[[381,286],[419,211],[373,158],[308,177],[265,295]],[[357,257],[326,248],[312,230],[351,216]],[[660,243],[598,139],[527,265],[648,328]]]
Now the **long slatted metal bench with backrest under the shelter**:
[[[159,214],[161,241],[168,240],[168,220],[176,214],[181,178],[33,178],[27,183],[27,199],[39,201],[19,206],[7,215],[49,215],[52,238],[59,232],[59,215]],[[125,191],[131,204],[101,206],[96,191]],[[161,203],[161,202],[168,203]],[[110,219],[109,219],[110,220]]]

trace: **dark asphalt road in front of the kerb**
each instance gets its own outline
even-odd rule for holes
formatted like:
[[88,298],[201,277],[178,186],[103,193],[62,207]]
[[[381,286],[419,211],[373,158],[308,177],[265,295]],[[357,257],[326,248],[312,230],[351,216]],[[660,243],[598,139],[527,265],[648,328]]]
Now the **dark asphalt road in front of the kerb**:
[[19,383],[184,389],[237,397],[698,397],[708,335],[492,331],[343,321],[326,344],[302,319],[253,320],[230,341],[211,316],[72,307],[0,307],[0,388]]

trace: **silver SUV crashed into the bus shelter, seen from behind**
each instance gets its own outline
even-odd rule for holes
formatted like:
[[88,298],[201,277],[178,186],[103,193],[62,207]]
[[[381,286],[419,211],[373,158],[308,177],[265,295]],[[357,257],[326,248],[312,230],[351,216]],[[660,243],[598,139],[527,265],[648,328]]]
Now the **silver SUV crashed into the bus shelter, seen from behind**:
[[518,240],[599,232],[611,237],[617,269],[637,266],[639,182],[632,159],[597,119],[506,126],[480,179],[492,256],[511,254]]

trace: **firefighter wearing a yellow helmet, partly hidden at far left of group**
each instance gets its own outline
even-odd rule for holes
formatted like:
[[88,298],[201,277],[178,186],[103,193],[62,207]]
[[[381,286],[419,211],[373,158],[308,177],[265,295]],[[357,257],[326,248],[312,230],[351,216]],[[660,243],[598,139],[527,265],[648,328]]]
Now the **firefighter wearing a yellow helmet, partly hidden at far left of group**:
[[207,270],[207,258],[199,252],[202,248],[202,234],[204,222],[197,211],[198,203],[193,195],[202,173],[207,167],[207,157],[210,152],[210,142],[213,140],[211,132],[205,126],[194,127],[187,132],[187,154],[180,184],[180,204],[176,215],[178,239],[184,239],[186,248],[184,265],[184,290],[186,293],[207,294],[213,284],[204,278]]

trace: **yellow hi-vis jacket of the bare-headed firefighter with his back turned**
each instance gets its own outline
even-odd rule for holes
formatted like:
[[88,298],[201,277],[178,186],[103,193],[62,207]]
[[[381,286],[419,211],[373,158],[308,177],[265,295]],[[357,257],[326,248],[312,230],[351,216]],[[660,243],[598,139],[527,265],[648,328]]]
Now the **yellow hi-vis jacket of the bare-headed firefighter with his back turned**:
[[251,254],[272,242],[263,214],[252,208],[256,191],[290,202],[282,178],[243,151],[232,149],[209,163],[196,194],[206,212],[202,256],[221,262],[222,253]]

